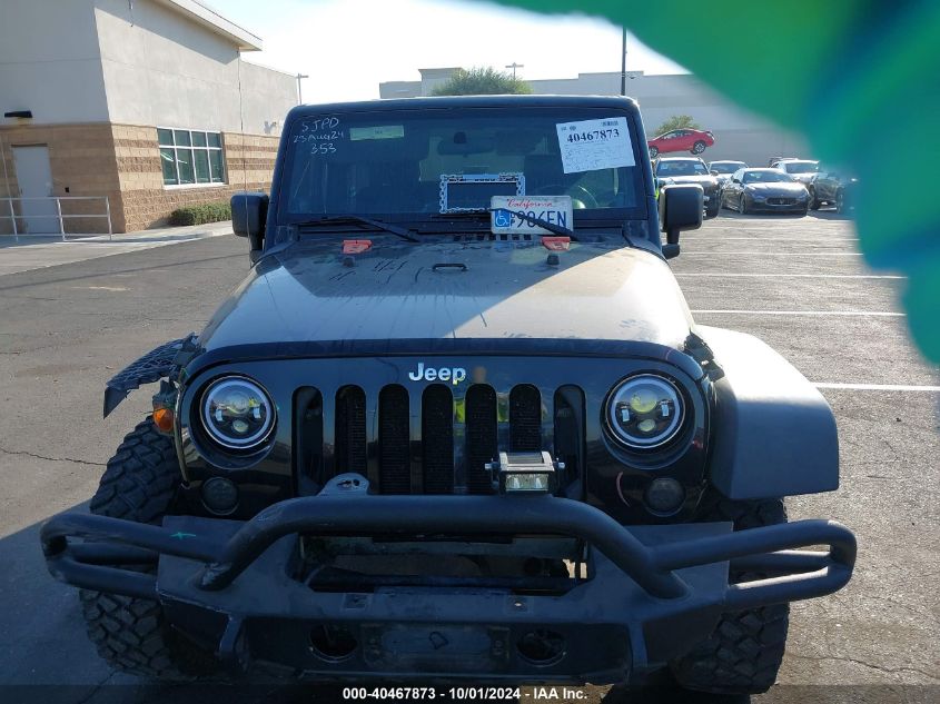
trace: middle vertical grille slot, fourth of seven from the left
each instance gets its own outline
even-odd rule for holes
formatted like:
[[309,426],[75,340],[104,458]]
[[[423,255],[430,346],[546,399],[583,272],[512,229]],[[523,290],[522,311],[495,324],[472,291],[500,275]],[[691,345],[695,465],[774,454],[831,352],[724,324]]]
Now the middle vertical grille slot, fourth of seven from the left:
[[422,396],[422,466],[425,494],[454,493],[454,399],[443,384]]

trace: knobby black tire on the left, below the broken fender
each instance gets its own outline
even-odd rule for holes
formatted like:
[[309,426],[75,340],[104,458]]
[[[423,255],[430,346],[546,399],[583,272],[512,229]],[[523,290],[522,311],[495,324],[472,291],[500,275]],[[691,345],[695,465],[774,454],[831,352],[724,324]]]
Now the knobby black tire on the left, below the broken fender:
[[[158,523],[174,503],[180,474],[172,442],[147,418],[108,462],[91,513]],[[81,589],[88,637],[111,666],[144,677],[187,681],[209,675],[216,658],[164,617],[159,602]]]

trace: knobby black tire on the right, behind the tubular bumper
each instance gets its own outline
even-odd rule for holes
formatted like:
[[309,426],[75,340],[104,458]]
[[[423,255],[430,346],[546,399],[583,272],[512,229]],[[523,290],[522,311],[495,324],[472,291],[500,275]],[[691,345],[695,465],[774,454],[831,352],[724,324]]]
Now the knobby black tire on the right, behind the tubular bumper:
[[[732,502],[709,499],[699,520],[732,520],[735,531],[786,523],[782,499]],[[732,582],[751,582],[764,575],[732,573]],[[726,694],[766,692],[776,680],[790,605],[775,604],[722,616],[708,641],[670,663],[675,681],[689,690]]]

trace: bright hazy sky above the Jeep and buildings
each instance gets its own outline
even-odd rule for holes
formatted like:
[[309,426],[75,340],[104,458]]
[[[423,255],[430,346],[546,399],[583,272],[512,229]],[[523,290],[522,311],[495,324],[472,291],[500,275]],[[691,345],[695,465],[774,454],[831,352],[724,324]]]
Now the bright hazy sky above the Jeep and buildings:
[[[526,79],[620,71],[621,28],[583,14],[541,16],[482,1],[209,0],[259,36],[247,61],[306,73],[304,102],[378,98],[378,85],[419,68],[524,65]],[[627,36],[630,71],[685,70]],[[512,69],[508,69],[511,72]]]

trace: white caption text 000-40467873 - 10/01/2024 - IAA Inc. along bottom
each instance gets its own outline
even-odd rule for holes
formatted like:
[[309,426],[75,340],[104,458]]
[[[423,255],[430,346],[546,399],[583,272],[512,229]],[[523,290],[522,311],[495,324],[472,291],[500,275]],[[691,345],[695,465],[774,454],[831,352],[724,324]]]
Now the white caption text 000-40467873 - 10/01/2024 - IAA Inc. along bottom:
[[580,687],[538,686],[521,687],[344,687],[344,701],[396,701],[437,698],[456,702],[577,702],[585,700],[587,692]]

